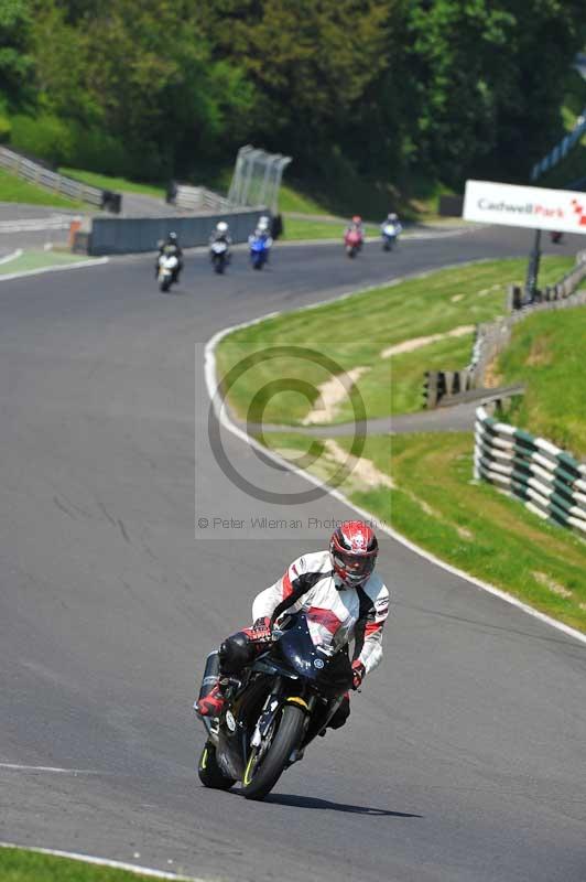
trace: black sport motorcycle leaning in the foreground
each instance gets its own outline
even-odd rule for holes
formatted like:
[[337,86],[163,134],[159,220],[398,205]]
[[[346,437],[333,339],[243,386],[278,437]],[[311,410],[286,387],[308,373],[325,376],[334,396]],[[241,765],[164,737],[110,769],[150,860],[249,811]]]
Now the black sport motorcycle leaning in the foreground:
[[[200,698],[217,677],[218,656],[213,653]],[[273,630],[267,650],[239,678],[223,678],[225,708],[219,718],[203,718],[207,741],[199,759],[200,782],[221,790],[241,782],[247,799],[263,799],[324,732],[351,682],[346,648],[332,654],[315,644],[305,613],[287,615]]]

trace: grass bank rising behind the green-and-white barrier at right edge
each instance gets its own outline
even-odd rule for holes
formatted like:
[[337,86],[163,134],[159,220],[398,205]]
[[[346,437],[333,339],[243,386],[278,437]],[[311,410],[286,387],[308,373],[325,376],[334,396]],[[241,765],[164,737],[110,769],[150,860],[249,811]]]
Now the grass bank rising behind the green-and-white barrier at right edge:
[[578,456],[586,455],[586,306],[531,315],[513,329],[497,362],[504,383],[525,384],[507,419]]

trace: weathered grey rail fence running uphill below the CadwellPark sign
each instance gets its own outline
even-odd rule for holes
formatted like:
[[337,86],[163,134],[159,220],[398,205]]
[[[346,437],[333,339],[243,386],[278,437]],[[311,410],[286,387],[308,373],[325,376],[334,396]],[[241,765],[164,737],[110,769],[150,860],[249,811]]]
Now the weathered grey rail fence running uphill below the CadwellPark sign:
[[576,255],[576,266],[558,282],[539,291],[538,298],[531,303],[519,302],[516,305],[516,297],[521,297],[521,289],[511,288],[508,305],[512,313],[493,322],[477,325],[469,365],[458,370],[425,373],[423,384],[425,407],[435,408],[444,398],[469,389],[482,388],[488,366],[509,345],[512,329],[518,322],[524,321],[534,312],[586,305],[586,291],[576,291],[584,279],[586,279],[586,251],[579,251]]

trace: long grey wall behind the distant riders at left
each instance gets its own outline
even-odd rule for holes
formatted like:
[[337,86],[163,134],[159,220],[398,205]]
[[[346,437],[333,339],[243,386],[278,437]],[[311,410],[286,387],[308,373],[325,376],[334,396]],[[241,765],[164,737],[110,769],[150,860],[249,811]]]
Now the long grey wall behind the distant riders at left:
[[126,255],[155,251],[158,243],[175,230],[182,248],[207,245],[218,220],[230,225],[235,243],[246,241],[262,208],[206,214],[198,217],[94,217],[87,245],[89,255]]

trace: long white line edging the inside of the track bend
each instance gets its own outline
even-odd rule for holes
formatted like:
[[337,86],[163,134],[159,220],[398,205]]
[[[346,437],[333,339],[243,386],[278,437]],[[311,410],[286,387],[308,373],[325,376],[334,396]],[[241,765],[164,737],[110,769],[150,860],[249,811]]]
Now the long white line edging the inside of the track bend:
[[[487,259],[488,260],[492,260],[493,258],[487,258]],[[449,266],[446,266],[446,267],[441,267],[440,269],[449,269],[452,266],[463,267],[463,266],[469,266],[469,265],[474,265],[474,263],[484,263],[484,262],[487,262],[487,261],[485,259],[482,259],[482,260],[473,260],[473,261],[468,261],[467,263],[456,263],[456,265],[449,265]],[[424,276],[428,276],[431,272],[435,272],[435,271],[436,270],[426,270],[425,272],[416,273],[414,276],[403,276],[403,277],[401,277],[399,279],[394,279],[391,283],[392,284],[398,284],[399,282],[401,282],[401,281],[403,281],[405,279],[421,278],[421,277],[424,277]],[[381,282],[380,284],[369,286],[368,288],[361,288],[358,291],[348,291],[348,292],[341,294],[339,298],[334,298],[333,300],[322,300],[322,301],[318,301],[317,303],[311,303],[307,306],[302,306],[300,310],[294,310],[294,312],[297,312],[297,311],[301,312],[302,310],[316,309],[317,306],[322,306],[322,305],[325,305],[327,303],[336,303],[339,300],[346,299],[348,297],[352,297],[354,294],[361,294],[361,293],[365,293],[366,291],[370,291],[370,290],[373,290],[376,288],[383,288],[386,284],[388,284],[388,283]],[[360,508],[359,506],[355,505],[355,503],[352,503],[350,499],[348,499],[343,493],[339,493],[339,491],[333,490],[332,487],[328,487],[327,484],[325,484],[323,481],[321,481],[319,478],[315,477],[314,475],[310,474],[310,472],[306,472],[303,469],[299,469],[296,465],[292,465],[290,462],[284,460],[282,456],[279,456],[276,453],[274,453],[274,451],[271,451],[269,448],[263,447],[256,439],[251,438],[247,432],[245,432],[242,429],[240,429],[238,426],[236,426],[236,423],[232,422],[232,420],[228,416],[227,407],[226,407],[226,405],[224,402],[218,407],[218,401],[217,401],[218,383],[217,383],[217,374],[216,374],[216,347],[217,347],[218,343],[221,340],[224,340],[224,337],[228,336],[228,334],[231,334],[235,331],[240,331],[243,327],[251,327],[252,325],[260,324],[260,322],[263,322],[267,319],[273,319],[276,315],[281,315],[282,312],[283,312],[282,310],[275,310],[274,312],[267,313],[265,315],[261,315],[258,319],[252,319],[249,322],[241,322],[240,324],[232,325],[231,327],[225,327],[223,331],[218,331],[216,334],[214,334],[214,336],[210,337],[210,340],[208,340],[208,342],[206,343],[206,346],[205,346],[204,374],[205,374],[207,394],[208,394],[208,396],[209,396],[209,398],[210,398],[210,400],[213,402],[216,416],[217,416],[218,420],[220,421],[220,423],[229,432],[235,434],[241,441],[245,441],[245,443],[249,444],[249,447],[253,448],[259,453],[262,453],[264,456],[268,456],[269,459],[273,460],[273,462],[279,463],[279,465],[284,466],[290,472],[293,472],[294,474],[299,475],[300,477],[304,477],[310,483],[315,484],[315,486],[322,487],[323,490],[325,490],[326,493],[328,493],[335,499],[338,499],[339,502],[344,503],[345,505],[347,505],[349,508],[351,508],[355,512],[357,512],[362,517],[366,517],[367,519],[368,518],[372,519],[372,518],[375,518],[375,515],[372,514],[372,512],[367,512],[366,509]],[[500,598],[500,600],[503,600],[506,603],[511,604],[511,606],[516,606],[518,610],[522,610],[522,612],[527,613],[528,615],[531,615],[534,619],[538,619],[540,622],[543,622],[544,624],[550,625],[551,627],[554,627],[557,631],[562,631],[567,636],[573,637],[574,639],[578,641],[579,643],[583,643],[583,644],[586,645],[586,634],[583,634],[580,631],[576,631],[576,628],[573,628],[569,625],[565,625],[563,622],[558,622],[556,619],[552,619],[550,615],[546,615],[545,613],[542,613],[539,610],[535,610],[533,606],[530,606],[528,603],[523,603],[523,601],[519,600],[518,598],[513,596],[512,594],[509,594],[506,591],[502,591],[502,589],[497,588],[496,585],[492,585],[489,582],[484,582],[481,579],[477,579],[475,576],[470,576],[470,573],[467,573],[464,570],[460,570],[458,567],[453,567],[451,563],[447,563],[446,561],[441,560],[441,558],[435,557],[435,555],[432,555],[430,551],[426,551],[424,548],[421,548],[420,546],[415,545],[410,539],[408,539],[405,536],[403,536],[402,534],[398,533],[395,529],[393,529],[392,527],[388,526],[387,524],[379,524],[378,529],[382,530],[388,536],[390,536],[391,539],[394,539],[400,545],[403,545],[405,548],[409,548],[411,551],[413,551],[415,555],[419,555],[419,557],[423,558],[424,560],[427,560],[431,563],[434,563],[436,567],[440,567],[441,569],[445,570],[446,572],[449,572],[453,576],[457,576],[459,579],[463,579],[464,581],[469,582],[470,584],[475,585],[476,588],[479,588],[482,591],[486,591],[487,593],[492,594],[496,598]]]

